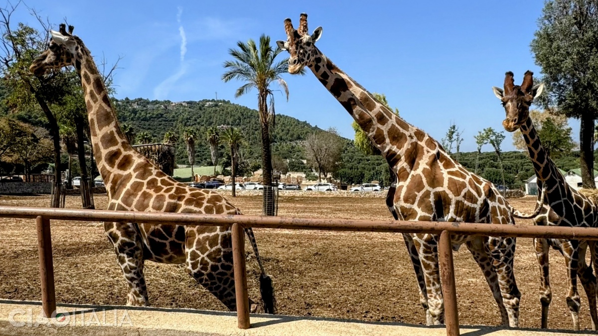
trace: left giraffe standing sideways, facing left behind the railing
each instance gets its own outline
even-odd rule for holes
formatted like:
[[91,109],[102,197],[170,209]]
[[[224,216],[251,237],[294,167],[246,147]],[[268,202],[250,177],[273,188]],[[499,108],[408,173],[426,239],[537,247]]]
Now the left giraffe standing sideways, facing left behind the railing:
[[[66,32],[64,24],[59,32],[50,30],[47,50],[29,70],[43,75],[50,69],[75,67],[83,85],[94,158],[108,192],[108,209],[240,215],[240,210],[220,194],[188,188],[132,148],[118,126],[90,51],[72,30],[69,26]],[[236,310],[230,227],[105,222],[104,229],[128,284],[127,305],[149,305],[143,271],[144,261],[151,260],[185,264],[190,276],[229,310]],[[246,228],[245,233],[260,265],[264,310],[274,313],[271,279],[264,270],[253,231]],[[250,304],[255,310],[257,306]]]

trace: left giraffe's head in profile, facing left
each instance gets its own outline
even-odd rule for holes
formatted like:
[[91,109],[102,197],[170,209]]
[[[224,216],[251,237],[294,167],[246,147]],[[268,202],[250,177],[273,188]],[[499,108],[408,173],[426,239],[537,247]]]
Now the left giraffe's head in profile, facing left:
[[59,31],[50,30],[51,39],[48,48],[33,60],[29,71],[35,75],[43,75],[50,69],[61,69],[69,65],[74,65],[79,71],[81,52],[85,48],[81,39],[72,35],[73,29],[73,26],[69,26],[67,32],[66,25],[61,23]]

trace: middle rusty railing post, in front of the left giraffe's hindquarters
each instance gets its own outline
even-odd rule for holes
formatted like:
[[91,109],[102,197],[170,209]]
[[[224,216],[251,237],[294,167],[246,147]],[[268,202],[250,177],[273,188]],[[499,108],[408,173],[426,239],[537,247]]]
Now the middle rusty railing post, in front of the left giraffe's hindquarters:
[[247,270],[245,268],[245,234],[243,227],[233,224],[234,288],[237,298],[237,322],[240,329],[249,329],[249,295],[247,294]]

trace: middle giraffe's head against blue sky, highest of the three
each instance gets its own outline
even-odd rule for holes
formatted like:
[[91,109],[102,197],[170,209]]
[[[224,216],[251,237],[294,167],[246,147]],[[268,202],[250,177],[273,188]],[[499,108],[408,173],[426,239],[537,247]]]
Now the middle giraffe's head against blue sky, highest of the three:
[[316,47],[315,43],[322,37],[322,27],[313,30],[312,35],[307,33],[307,14],[301,14],[299,29],[293,28],[291,19],[285,19],[286,41],[276,41],[278,47],[286,50],[289,57],[289,72],[298,74],[304,66],[314,62]]

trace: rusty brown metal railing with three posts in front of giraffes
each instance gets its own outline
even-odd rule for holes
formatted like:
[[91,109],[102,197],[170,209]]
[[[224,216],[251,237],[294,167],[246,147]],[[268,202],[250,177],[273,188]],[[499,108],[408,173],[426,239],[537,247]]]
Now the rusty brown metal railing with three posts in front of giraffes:
[[440,234],[438,258],[444,296],[447,335],[459,335],[459,314],[454,282],[451,234],[471,236],[522,237],[598,240],[598,228],[521,226],[459,222],[371,221],[365,219],[282,218],[245,215],[205,215],[199,213],[129,212],[111,210],[54,209],[0,206],[0,217],[36,219],[42,309],[45,316],[56,313],[50,219],[66,221],[133,222],[148,224],[231,226],[233,267],[236,284],[237,322],[248,329],[249,298],[245,266],[243,228],[281,228],[290,230],[361,231],[389,233]]

